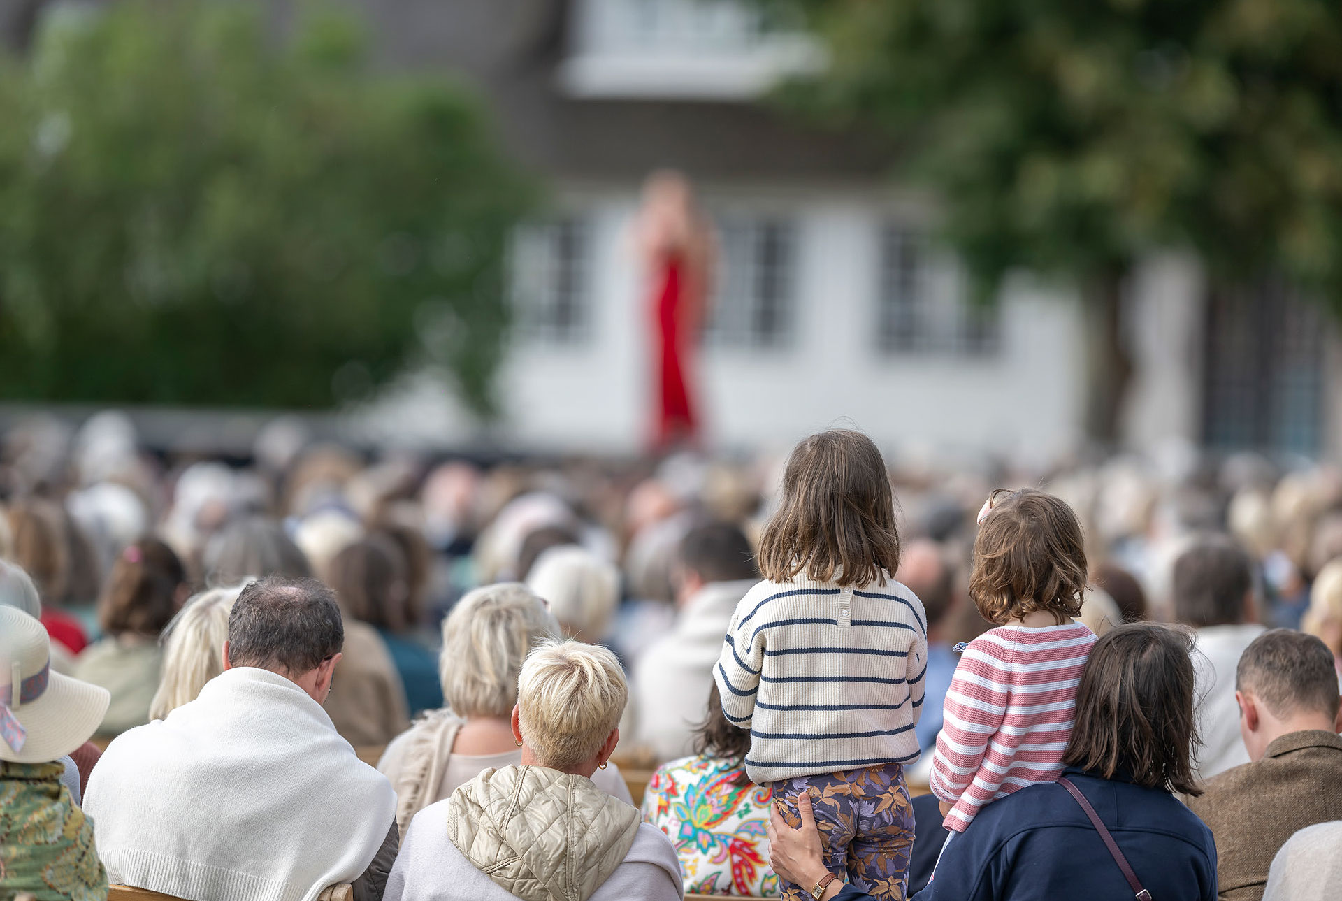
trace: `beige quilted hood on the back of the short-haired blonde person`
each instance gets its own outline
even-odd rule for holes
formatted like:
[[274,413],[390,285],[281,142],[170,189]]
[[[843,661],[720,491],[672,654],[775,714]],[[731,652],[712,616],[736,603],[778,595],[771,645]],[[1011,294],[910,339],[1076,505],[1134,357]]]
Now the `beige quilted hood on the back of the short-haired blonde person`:
[[636,808],[545,767],[486,769],[447,804],[456,849],[523,901],[586,901],[639,831]]

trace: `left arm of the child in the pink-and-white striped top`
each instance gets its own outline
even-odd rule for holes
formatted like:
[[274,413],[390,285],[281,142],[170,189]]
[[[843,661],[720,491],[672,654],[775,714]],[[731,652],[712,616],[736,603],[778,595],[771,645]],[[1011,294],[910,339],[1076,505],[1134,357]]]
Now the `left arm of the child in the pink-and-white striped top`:
[[931,757],[931,791],[957,802],[984,764],[988,743],[1007,716],[1008,663],[992,655],[996,645],[977,639],[965,649],[946,692],[945,722]]

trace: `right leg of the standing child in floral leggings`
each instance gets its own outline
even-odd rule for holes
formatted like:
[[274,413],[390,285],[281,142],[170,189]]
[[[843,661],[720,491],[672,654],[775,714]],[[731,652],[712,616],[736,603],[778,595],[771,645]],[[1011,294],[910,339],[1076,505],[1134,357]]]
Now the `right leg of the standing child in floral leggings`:
[[847,773],[858,828],[848,847],[848,882],[882,901],[905,901],[914,850],[914,806],[899,764]]

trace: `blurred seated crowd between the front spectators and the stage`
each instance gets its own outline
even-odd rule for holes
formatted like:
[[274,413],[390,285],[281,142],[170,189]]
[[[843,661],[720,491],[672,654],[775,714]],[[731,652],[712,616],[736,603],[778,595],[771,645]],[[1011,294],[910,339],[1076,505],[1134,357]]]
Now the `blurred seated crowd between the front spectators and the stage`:
[[[103,736],[146,722],[164,702],[154,697],[172,654],[162,634],[188,598],[200,595],[196,618],[223,611],[213,649],[193,639],[197,654],[217,653],[227,589],[279,573],[336,589],[345,670],[327,710],[352,744],[385,745],[409,717],[443,706],[440,622],[454,603],[478,585],[525,581],[568,635],[608,645],[631,671],[621,755],[641,760],[690,751],[727,619],[756,579],[752,541],[782,462],[378,454],[311,439],[283,419],[258,434],[251,455],[219,459],[146,447],[117,412],[78,428],[19,422],[0,459],[0,555],[32,576],[59,667],[113,692]],[[1252,602],[1229,622],[1303,623],[1342,658],[1342,473],[1331,466],[1283,471],[1239,454],[1174,471],[1114,457],[1036,471],[895,467],[890,477],[905,541],[899,577],[927,608],[946,681],[949,647],[988,627],[966,596],[974,514],[989,489],[1020,485],[1041,485],[1082,516],[1092,630],[1177,620],[1176,559],[1197,538],[1228,533],[1253,564]],[[0,588],[21,591],[12,577]],[[705,608],[714,591],[726,600]],[[640,685],[640,675],[660,683]],[[937,728],[925,716],[925,747]]]

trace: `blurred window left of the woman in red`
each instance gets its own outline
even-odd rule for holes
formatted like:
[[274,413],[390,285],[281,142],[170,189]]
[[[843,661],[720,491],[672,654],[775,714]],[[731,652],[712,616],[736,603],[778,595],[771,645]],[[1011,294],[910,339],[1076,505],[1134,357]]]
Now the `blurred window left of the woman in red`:
[[577,215],[518,227],[513,235],[510,299],[518,332],[573,344],[590,328],[592,228]]

